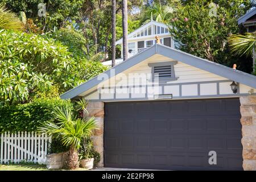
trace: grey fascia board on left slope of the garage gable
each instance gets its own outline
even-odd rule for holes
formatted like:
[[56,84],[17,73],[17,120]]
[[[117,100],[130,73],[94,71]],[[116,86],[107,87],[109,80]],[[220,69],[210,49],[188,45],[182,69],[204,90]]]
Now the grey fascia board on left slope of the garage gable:
[[70,99],[70,98],[79,96],[79,94],[81,94],[82,92],[85,92],[86,90],[93,88],[93,86],[97,86],[102,81],[105,81],[105,80],[98,80],[98,77],[100,77],[102,74],[107,74],[108,78],[110,78],[110,76],[113,76],[113,75],[110,75],[110,72],[112,69],[115,69],[115,75],[117,75],[118,73],[121,73],[130,67],[133,67],[134,65],[140,63],[141,61],[147,59],[148,57],[155,55],[155,53],[156,53],[156,46],[151,46],[150,48],[147,48],[145,51],[130,57],[129,59],[127,59],[126,61],[123,61],[118,65],[115,65],[115,67],[109,69],[108,71],[105,71],[104,73],[101,73],[100,75],[90,79],[89,81],[86,81],[81,85],[76,86],[75,88],[69,90],[68,92],[61,94],[60,98],[65,100],[65,99]]

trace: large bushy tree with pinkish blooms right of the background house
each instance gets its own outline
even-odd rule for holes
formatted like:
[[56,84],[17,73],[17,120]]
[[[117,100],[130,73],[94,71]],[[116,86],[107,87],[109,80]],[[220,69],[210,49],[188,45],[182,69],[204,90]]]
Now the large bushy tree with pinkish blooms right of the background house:
[[250,8],[250,1],[214,1],[216,6],[210,3],[207,0],[181,3],[172,14],[170,31],[180,42],[181,50],[226,64],[232,57],[226,51],[228,37],[239,31],[237,18]]

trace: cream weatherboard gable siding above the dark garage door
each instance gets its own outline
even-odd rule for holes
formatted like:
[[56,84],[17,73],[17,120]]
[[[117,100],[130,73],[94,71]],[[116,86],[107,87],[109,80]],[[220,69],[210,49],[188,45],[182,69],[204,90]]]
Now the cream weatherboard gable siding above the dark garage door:
[[[148,63],[167,61],[175,60],[156,54],[144,60],[142,63],[119,73],[115,77],[102,82],[98,88],[110,87],[112,89],[104,89],[104,92],[101,92],[100,99],[106,101],[114,99],[144,100],[144,98],[146,98],[146,100],[154,100],[154,94],[172,94],[174,99],[181,97],[200,98],[202,96],[236,96],[230,89],[230,84],[232,83],[231,80],[192,67],[191,65],[181,63],[180,61],[174,65],[175,77],[177,77],[177,80],[168,81],[166,84],[152,86],[152,68],[148,66]],[[133,88],[134,86],[135,88]],[[99,98],[99,92],[97,91],[97,87],[94,87],[93,89],[96,92],[89,94],[92,92],[92,89],[90,89],[90,92],[82,93],[80,96],[86,96],[85,98],[88,100],[97,100]],[[250,89],[250,86],[240,84],[238,90],[241,94],[246,94]],[[256,93],[256,89],[254,89],[254,93]]]

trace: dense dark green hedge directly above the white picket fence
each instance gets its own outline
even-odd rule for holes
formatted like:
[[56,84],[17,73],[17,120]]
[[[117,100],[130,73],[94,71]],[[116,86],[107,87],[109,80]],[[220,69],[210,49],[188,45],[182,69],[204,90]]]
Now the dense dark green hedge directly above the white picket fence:
[[53,110],[57,106],[73,109],[71,101],[38,99],[28,104],[0,107],[0,133],[5,131],[36,131],[42,122],[56,121]]

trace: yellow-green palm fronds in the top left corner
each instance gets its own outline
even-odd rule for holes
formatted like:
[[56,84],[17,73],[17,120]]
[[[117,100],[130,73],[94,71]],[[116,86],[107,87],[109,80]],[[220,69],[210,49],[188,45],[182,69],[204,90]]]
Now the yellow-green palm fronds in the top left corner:
[[0,3],[0,29],[20,30],[22,27],[18,16],[11,10],[7,10],[3,3]]

